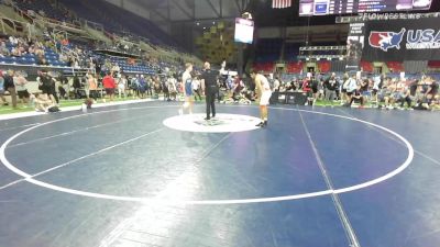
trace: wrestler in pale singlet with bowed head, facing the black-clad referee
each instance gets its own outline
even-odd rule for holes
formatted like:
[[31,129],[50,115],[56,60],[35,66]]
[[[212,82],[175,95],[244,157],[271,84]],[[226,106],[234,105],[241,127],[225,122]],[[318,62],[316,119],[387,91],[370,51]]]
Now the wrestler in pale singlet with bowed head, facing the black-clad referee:
[[257,98],[260,100],[260,116],[262,122],[256,126],[265,127],[267,126],[267,116],[268,116],[267,105],[272,97],[271,86],[266,77],[254,70],[251,70],[251,77],[255,81],[255,90]]

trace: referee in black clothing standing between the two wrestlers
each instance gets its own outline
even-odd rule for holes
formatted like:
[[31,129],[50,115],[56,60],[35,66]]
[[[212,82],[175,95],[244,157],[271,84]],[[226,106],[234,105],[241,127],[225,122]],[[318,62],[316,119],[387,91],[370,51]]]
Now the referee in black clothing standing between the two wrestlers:
[[211,65],[206,61],[204,65],[205,71],[201,74],[201,79],[204,80],[205,85],[205,96],[206,96],[206,103],[207,103],[207,117],[205,120],[216,117],[216,96],[219,91],[219,87],[217,83],[219,71],[211,70]]

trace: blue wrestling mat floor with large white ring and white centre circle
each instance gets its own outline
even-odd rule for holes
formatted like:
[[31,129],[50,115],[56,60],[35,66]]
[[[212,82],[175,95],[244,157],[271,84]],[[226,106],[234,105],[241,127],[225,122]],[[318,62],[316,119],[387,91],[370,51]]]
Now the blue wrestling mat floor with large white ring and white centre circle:
[[439,246],[439,114],[177,110],[1,121],[0,246]]

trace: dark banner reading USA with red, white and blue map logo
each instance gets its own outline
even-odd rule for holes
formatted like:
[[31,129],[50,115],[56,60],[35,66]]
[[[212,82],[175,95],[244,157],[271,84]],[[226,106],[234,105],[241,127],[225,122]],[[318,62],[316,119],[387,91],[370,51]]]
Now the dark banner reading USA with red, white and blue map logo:
[[369,21],[364,44],[367,61],[438,60],[440,18]]

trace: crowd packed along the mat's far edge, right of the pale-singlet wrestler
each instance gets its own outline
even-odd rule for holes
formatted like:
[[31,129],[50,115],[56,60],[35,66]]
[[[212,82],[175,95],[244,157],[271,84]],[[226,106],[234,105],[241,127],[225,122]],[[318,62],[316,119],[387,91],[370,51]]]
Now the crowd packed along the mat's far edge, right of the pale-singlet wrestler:
[[361,75],[353,72],[337,76],[309,75],[290,80],[275,78],[274,91],[300,91],[307,94],[306,104],[322,101],[324,105],[334,102],[344,106],[359,108],[438,110],[440,104],[439,82],[432,76],[420,75],[400,78],[393,75]]

